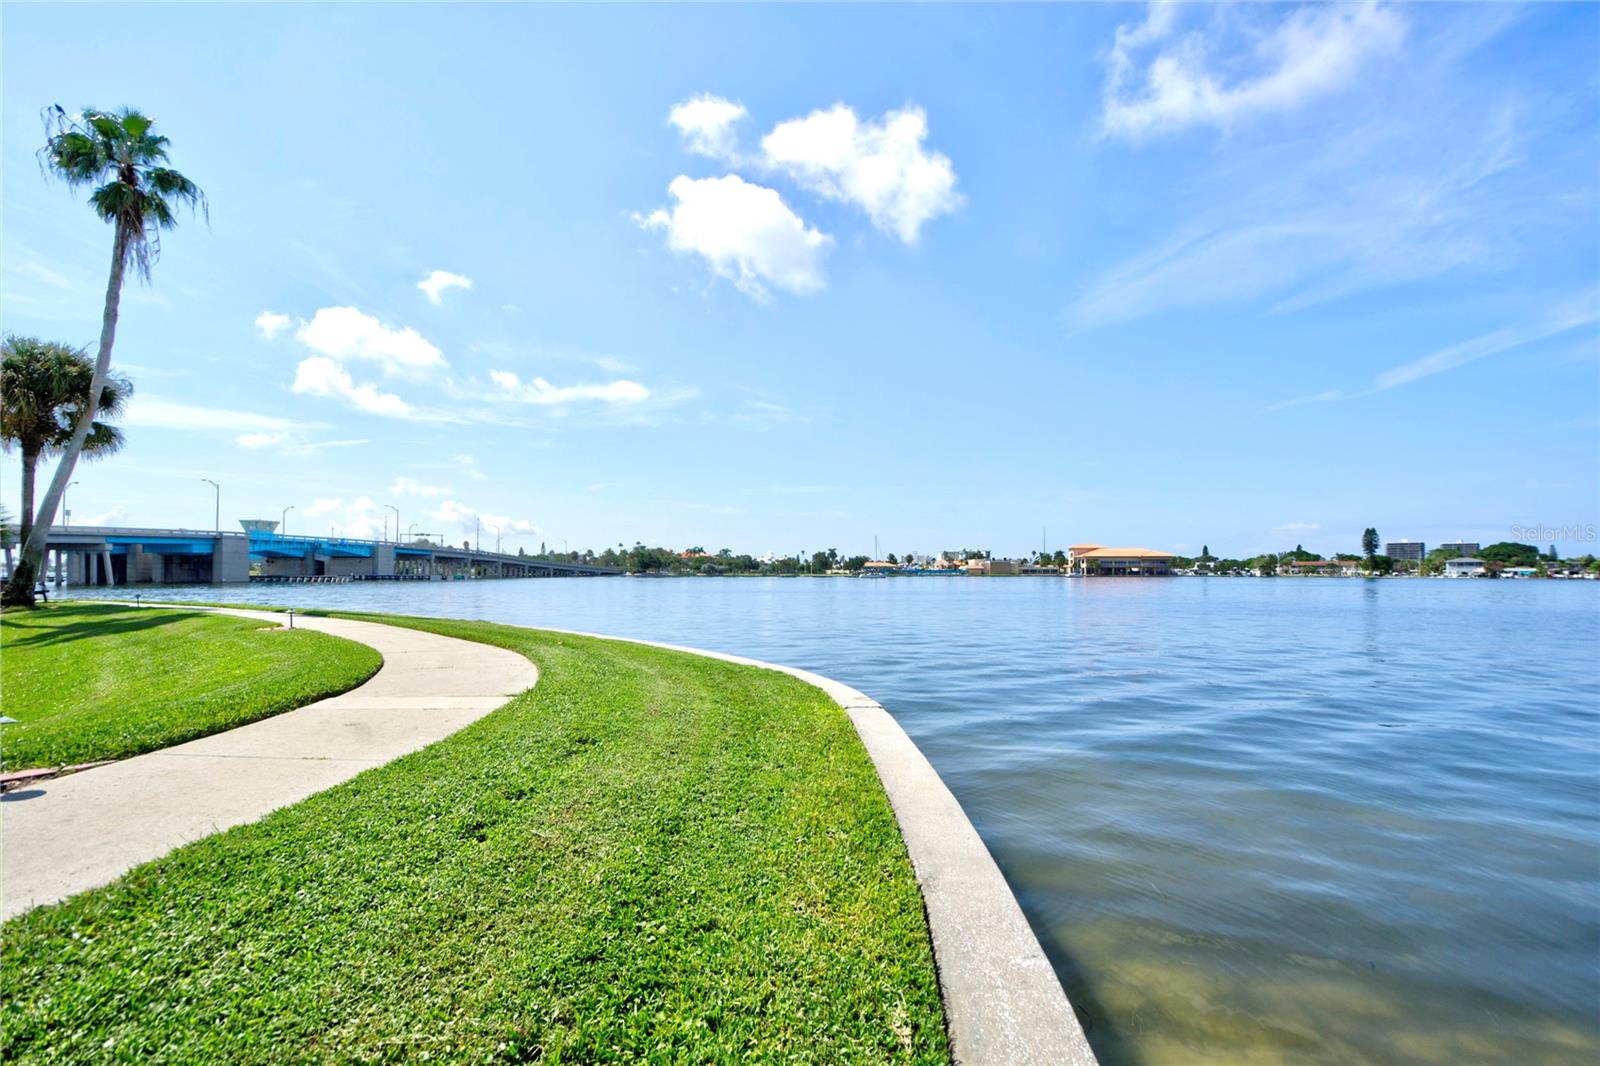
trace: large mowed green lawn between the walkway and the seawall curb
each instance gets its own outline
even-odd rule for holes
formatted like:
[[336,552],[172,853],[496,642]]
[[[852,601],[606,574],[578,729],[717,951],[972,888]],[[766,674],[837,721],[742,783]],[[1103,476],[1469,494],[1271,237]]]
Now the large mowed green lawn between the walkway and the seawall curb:
[[658,648],[382,621],[522,651],[539,683],[8,922],[0,1058],[949,1060],[904,844],[827,696]]

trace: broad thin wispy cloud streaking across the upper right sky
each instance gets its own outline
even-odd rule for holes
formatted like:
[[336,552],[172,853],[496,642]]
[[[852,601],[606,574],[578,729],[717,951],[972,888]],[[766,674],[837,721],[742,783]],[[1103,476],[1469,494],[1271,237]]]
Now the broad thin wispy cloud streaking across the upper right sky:
[[1554,149],[1555,128],[1475,82],[1461,58],[1502,22],[1464,19],[1483,26],[1462,30],[1462,43],[1435,24],[1422,59],[1381,98],[1330,104],[1294,131],[1240,136],[1195,157],[1170,190],[1174,203],[1195,205],[1187,218],[1091,275],[1067,303],[1066,325],[1198,309],[1288,314],[1507,271],[1544,234],[1581,226],[1592,192],[1526,165],[1536,149]]

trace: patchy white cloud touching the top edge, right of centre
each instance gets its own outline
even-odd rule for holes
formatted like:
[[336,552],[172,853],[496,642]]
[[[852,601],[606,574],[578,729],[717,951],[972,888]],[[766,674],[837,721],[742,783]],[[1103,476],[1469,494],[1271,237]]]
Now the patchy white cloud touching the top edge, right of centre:
[[[1174,5],[1152,3],[1144,22],[1118,27],[1107,62],[1101,126],[1138,139],[1189,126],[1293,110],[1352,83],[1362,67],[1400,48],[1406,21],[1379,3],[1306,5],[1259,35],[1248,75],[1227,80],[1237,58],[1218,58],[1200,32],[1171,40]],[[1142,72],[1134,53],[1165,42]]]

